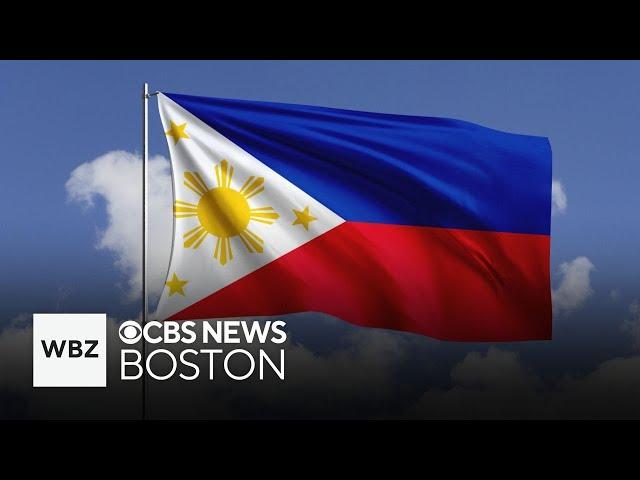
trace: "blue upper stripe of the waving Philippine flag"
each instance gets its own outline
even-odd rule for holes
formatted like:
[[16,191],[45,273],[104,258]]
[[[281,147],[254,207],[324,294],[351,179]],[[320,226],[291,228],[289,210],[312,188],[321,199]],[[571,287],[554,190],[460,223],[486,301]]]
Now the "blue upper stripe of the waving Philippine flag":
[[443,118],[166,95],[345,220],[549,234],[546,138]]

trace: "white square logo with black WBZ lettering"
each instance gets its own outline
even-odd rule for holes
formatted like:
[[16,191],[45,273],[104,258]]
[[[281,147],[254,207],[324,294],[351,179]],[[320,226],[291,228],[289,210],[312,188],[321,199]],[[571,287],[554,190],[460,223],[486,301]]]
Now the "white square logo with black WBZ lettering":
[[104,313],[33,315],[34,387],[106,387]]

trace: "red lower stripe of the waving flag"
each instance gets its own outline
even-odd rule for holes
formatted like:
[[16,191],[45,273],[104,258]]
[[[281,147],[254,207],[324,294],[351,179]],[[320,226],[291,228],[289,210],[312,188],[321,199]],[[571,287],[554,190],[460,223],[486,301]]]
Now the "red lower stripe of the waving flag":
[[316,311],[443,340],[551,338],[547,235],[346,222],[171,320]]

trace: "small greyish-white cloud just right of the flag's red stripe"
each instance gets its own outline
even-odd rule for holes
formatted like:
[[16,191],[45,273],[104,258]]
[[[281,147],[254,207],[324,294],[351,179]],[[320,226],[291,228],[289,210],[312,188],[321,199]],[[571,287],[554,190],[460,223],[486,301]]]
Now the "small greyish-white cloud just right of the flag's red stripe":
[[551,292],[555,314],[568,314],[580,308],[591,296],[591,271],[595,267],[587,257],[577,257],[560,265],[560,286]]

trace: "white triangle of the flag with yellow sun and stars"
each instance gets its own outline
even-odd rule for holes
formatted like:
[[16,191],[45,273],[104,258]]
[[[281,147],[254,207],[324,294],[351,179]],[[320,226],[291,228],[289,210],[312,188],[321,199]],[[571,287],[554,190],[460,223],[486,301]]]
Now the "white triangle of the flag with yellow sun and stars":
[[[171,131],[171,134],[167,134],[167,140],[171,156],[173,200],[178,207],[177,213],[174,213],[173,247],[167,282],[172,282],[174,274],[179,282],[172,283],[174,288],[164,287],[155,314],[157,319],[171,317],[344,222],[332,210],[161,93],[158,94],[158,107],[164,131]],[[224,160],[228,170],[233,168],[228,183],[230,191],[223,193],[218,190],[217,193],[203,195],[185,185],[185,174],[190,173],[189,177],[192,180],[195,178],[196,185],[193,181],[187,180],[187,183],[196,190],[208,192],[218,188],[224,180],[221,178]],[[220,167],[218,177],[216,166]],[[195,174],[199,175],[202,182]],[[251,177],[253,180],[249,180]],[[243,186],[251,185],[260,177],[264,178],[264,182],[258,188],[246,195],[241,193]],[[261,187],[264,190],[256,193]],[[180,203],[176,204],[176,201]],[[247,206],[264,210],[254,210],[253,218],[246,223]],[[315,219],[308,222],[298,220],[294,224],[298,219],[294,210],[303,212],[303,220],[309,220],[304,215],[306,212]],[[278,218],[269,218],[273,215],[260,216],[261,213],[277,213]],[[179,217],[176,218],[176,215]],[[220,218],[221,215],[224,218]],[[275,221],[267,224],[259,220]],[[249,252],[241,238],[244,236],[246,239],[247,234],[235,234],[238,231],[246,232],[247,229],[262,239],[262,252]],[[192,244],[186,248],[184,235],[188,232],[191,234],[186,238],[191,239]],[[221,250],[224,238],[229,239],[233,258],[227,255],[223,264]],[[149,241],[153,242],[153,238]],[[216,259],[214,251],[218,243],[219,258]],[[198,247],[193,248],[196,245]],[[253,248],[251,243],[249,248]],[[181,283],[185,281],[187,283]]]

